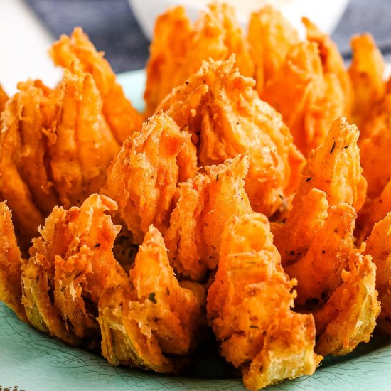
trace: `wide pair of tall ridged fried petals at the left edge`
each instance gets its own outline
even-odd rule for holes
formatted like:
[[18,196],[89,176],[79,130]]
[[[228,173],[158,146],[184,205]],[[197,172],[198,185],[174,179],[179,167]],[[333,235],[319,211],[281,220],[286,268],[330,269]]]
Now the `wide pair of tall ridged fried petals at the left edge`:
[[119,145],[102,115],[92,76],[74,63],[56,90],[18,85],[4,110],[0,197],[14,211],[23,250],[55,205],[80,205],[106,181]]

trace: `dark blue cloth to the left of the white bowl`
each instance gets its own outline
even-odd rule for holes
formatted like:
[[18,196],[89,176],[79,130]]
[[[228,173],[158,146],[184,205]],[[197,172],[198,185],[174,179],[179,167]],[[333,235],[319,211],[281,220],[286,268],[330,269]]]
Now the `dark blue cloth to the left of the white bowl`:
[[[1,1],[1,0],[0,0]],[[81,26],[115,73],[144,68],[149,41],[127,0],[25,0],[58,37]]]

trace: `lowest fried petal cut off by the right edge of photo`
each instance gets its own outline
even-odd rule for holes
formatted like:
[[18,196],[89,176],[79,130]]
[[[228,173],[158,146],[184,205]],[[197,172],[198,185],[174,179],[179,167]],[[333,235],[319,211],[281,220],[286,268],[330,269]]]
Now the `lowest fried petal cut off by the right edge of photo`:
[[376,289],[382,304],[377,328],[391,335],[391,213],[375,224],[365,243],[365,253],[372,255],[376,265]]

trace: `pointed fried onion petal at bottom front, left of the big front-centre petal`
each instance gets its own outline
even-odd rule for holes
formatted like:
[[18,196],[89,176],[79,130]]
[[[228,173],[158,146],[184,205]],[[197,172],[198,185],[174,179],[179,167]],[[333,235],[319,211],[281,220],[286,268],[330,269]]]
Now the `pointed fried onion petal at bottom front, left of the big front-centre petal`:
[[183,358],[173,355],[195,347],[205,297],[180,286],[153,226],[129,274],[130,284],[106,289],[100,298],[102,354],[114,365],[176,373]]

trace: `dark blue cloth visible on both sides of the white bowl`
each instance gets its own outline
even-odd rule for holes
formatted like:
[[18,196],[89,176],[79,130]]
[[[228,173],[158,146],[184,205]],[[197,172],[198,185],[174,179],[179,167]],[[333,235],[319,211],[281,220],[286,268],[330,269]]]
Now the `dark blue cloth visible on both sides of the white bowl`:
[[[25,0],[54,36],[82,26],[98,50],[103,50],[116,73],[144,68],[149,42],[127,0]],[[316,0],[314,0],[316,1]],[[350,0],[336,31],[343,57],[350,58],[350,36],[373,34],[391,61],[391,0]]]

